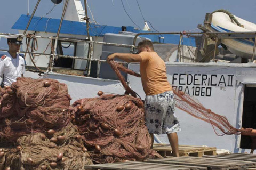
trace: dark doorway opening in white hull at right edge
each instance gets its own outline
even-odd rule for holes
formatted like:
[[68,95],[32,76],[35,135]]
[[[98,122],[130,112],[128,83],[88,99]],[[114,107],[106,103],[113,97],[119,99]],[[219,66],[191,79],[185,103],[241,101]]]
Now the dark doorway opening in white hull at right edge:
[[[256,84],[244,85],[242,127],[256,129]],[[240,148],[256,149],[256,136],[241,135]]]

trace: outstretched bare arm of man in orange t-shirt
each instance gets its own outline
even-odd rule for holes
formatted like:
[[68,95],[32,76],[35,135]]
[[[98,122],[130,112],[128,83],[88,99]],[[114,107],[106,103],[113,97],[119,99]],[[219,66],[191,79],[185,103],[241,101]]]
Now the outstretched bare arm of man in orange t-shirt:
[[114,53],[108,56],[107,62],[109,63],[110,60],[114,60],[118,58],[125,62],[141,62],[142,58],[138,54],[128,54],[128,53]]

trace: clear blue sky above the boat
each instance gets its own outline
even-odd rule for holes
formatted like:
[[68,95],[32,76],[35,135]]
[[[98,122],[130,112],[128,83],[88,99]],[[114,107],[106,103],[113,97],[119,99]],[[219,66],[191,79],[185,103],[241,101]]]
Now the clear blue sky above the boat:
[[[84,1],[82,0],[82,3]],[[255,0],[138,0],[143,17],[148,20],[158,31],[183,31],[197,28],[198,23],[203,23],[205,13],[211,13],[218,9],[226,9],[247,21],[256,23]],[[37,0],[29,0],[29,14],[31,15]],[[94,19],[102,25],[110,26],[134,26],[127,17],[121,0],[87,0]],[[114,5],[113,5],[114,4]],[[136,0],[123,0],[127,13],[132,20],[143,29],[144,23]],[[41,0],[37,17],[43,17],[49,12],[53,3],[51,0]],[[61,18],[63,2],[55,6],[53,11],[46,15],[48,18]],[[27,14],[28,0],[1,0],[0,20],[1,33],[18,33],[11,27],[21,14]],[[91,17],[91,13],[89,12]],[[0,47],[6,47],[3,38]]]

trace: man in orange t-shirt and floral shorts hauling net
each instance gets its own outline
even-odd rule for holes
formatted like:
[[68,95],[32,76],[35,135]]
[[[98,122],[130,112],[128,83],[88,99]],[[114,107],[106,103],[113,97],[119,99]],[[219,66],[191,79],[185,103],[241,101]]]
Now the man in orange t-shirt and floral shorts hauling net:
[[151,136],[153,148],[154,134],[167,134],[174,157],[179,157],[177,132],[180,125],[174,115],[174,94],[167,81],[164,61],[154,52],[151,41],[143,40],[138,44],[138,54],[114,53],[107,62],[115,58],[125,62],[139,62],[140,75],[145,99],[145,121]]

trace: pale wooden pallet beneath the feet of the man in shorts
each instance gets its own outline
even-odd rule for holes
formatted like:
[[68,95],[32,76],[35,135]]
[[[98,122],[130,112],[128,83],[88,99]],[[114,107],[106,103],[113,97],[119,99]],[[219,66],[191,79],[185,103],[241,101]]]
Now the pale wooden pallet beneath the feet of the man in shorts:
[[[153,149],[162,156],[172,156],[172,148],[170,144],[154,144]],[[202,157],[203,155],[216,155],[215,147],[198,147],[179,145],[180,156]]]

